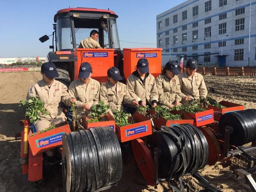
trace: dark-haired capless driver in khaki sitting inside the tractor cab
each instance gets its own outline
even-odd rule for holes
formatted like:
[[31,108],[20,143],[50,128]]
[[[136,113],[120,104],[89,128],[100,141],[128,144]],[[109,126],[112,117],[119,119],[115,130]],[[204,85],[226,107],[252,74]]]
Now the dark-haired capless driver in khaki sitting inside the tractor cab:
[[99,38],[99,32],[96,30],[92,30],[90,32],[90,37],[84,39],[83,41],[80,42],[78,48],[84,48],[84,49],[100,49],[99,43],[98,43],[98,38]]

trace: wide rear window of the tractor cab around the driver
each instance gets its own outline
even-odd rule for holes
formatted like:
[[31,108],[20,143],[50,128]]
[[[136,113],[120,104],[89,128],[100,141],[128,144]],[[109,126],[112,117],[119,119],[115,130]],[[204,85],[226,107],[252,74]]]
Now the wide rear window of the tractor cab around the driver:
[[108,25],[107,20],[95,20],[95,19],[75,19],[75,37],[76,37],[76,47],[85,38],[90,37],[90,32],[96,30],[99,32],[98,42],[100,46],[104,49],[109,49],[109,39],[108,39]]

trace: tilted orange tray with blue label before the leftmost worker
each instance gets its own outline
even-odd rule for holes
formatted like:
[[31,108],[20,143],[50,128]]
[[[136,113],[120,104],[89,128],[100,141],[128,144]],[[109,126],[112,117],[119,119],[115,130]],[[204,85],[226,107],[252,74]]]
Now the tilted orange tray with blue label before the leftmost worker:
[[68,124],[32,137],[28,137],[32,154],[35,156],[38,153],[61,146],[62,135],[65,133],[70,133],[70,127]]

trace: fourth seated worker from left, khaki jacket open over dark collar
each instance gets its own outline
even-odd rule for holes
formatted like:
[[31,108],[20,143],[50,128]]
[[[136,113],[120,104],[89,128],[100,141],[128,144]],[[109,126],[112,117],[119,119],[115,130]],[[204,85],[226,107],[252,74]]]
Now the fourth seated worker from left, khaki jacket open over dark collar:
[[[137,62],[137,69],[127,79],[127,89],[131,97],[135,98],[141,106],[157,106],[158,92],[155,78],[148,68],[148,60],[140,58]],[[129,107],[130,113],[134,113],[136,108]]]

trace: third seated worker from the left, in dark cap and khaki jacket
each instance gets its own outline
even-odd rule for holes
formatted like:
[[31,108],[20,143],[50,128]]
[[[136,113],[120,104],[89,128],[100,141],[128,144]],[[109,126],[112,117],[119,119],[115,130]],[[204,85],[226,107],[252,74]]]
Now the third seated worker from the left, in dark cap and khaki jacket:
[[139,105],[128,93],[126,85],[119,82],[122,79],[119,69],[111,67],[108,70],[108,82],[100,87],[99,98],[105,105],[109,105],[111,110],[123,110],[124,104]]

